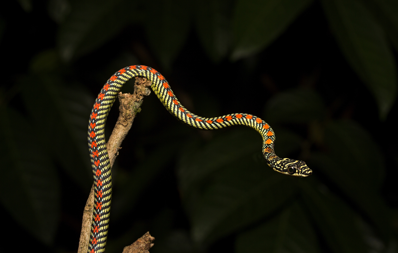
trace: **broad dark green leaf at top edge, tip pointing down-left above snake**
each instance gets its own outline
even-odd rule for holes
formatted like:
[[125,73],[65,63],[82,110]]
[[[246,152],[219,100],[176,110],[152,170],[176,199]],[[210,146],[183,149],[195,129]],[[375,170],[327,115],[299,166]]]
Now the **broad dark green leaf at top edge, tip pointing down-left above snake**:
[[271,44],[312,0],[237,0],[231,59],[255,54]]

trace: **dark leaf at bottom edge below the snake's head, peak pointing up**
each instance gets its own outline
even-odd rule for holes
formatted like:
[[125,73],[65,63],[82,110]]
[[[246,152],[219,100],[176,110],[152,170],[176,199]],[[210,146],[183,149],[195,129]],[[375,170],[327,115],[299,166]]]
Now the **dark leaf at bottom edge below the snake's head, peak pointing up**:
[[240,234],[236,238],[237,253],[315,253],[320,252],[316,233],[308,214],[294,203],[275,218]]

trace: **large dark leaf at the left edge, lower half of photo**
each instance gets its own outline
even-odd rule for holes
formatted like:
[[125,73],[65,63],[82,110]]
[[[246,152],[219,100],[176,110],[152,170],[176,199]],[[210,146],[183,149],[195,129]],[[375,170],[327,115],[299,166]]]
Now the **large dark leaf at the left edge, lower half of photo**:
[[51,244],[60,212],[56,168],[31,122],[0,106],[0,201],[23,228]]

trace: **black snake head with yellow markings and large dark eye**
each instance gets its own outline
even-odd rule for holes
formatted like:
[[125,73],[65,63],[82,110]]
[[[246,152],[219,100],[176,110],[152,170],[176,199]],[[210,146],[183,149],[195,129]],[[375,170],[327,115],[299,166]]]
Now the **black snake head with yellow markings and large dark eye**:
[[279,159],[273,160],[271,164],[268,164],[277,172],[295,177],[306,177],[312,174],[312,170],[303,161],[289,158]]

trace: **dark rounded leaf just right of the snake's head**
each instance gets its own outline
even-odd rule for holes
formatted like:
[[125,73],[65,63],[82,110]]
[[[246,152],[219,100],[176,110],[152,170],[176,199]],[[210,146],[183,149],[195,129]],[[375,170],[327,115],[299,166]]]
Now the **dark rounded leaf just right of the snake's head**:
[[[326,126],[327,161],[316,158],[316,164],[347,192],[375,191],[384,178],[380,148],[371,135],[353,121],[332,122]],[[325,155],[322,155],[324,157]],[[317,157],[317,156],[314,156]]]

